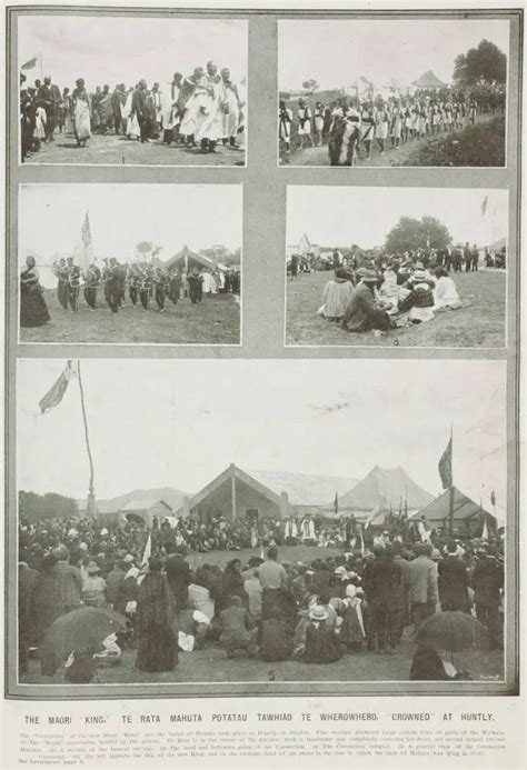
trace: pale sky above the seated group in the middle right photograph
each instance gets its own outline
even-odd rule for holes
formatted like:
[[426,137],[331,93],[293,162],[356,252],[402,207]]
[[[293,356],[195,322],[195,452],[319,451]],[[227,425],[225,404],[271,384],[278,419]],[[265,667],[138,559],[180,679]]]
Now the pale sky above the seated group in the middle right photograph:
[[[485,216],[481,207],[485,198]],[[436,217],[455,243],[489,246],[508,232],[507,190],[380,187],[289,187],[287,243],[304,232],[318,246],[382,246],[400,217]]]

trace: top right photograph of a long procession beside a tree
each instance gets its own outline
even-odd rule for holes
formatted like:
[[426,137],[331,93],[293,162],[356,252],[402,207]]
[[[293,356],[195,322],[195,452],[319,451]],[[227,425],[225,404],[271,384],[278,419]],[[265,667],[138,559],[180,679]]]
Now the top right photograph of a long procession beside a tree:
[[505,167],[509,21],[278,23],[280,166]]

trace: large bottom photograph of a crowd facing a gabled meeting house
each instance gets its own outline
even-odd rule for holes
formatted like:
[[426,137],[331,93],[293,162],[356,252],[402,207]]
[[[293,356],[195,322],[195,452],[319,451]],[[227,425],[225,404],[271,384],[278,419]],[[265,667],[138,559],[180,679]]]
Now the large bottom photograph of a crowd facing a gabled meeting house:
[[497,360],[20,360],[18,694],[503,682],[506,402]]

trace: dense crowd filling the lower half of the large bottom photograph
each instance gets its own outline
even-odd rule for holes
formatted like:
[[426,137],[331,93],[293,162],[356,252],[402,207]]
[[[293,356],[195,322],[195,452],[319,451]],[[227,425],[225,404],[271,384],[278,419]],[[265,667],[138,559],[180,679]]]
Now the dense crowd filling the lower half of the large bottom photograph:
[[[110,607],[128,622],[101,649],[72,651],[66,667],[70,681],[78,681],[76,653],[92,661],[90,681],[96,661],[119,662],[127,648],[137,651],[138,670],[153,672],[173,670],[181,652],[203,647],[219,647],[232,659],[320,664],[360,651],[392,654],[404,638],[415,639],[427,618],[450,610],[475,616],[489,647],[501,648],[504,530],[485,532],[485,539],[454,537],[419,522],[422,537],[409,538],[395,527],[396,518],[388,529],[368,533],[348,520],[339,534],[340,553],[327,556],[321,548],[316,559],[295,563],[280,563],[275,544],[290,542],[291,520],[269,522],[260,539],[268,543],[267,554],[261,549],[246,563],[235,556],[220,568],[211,553],[199,566],[195,558],[193,569],[186,540],[192,543],[188,530],[199,529],[196,522],[181,520],[173,528],[155,521],[148,532],[130,522],[101,527],[97,520],[21,519],[20,671],[28,671],[53,621],[81,607]],[[317,534],[315,527],[302,527],[298,522],[298,544]],[[221,529],[227,527],[217,521],[220,539]],[[233,546],[229,537],[226,547]],[[210,533],[207,540],[211,548],[220,544]],[[44,676],[60,664],[49,654],[40,657]],[[352,672],[351,659],[349,666]],[[436,650],[421,644],[408,676],[455,674]]]

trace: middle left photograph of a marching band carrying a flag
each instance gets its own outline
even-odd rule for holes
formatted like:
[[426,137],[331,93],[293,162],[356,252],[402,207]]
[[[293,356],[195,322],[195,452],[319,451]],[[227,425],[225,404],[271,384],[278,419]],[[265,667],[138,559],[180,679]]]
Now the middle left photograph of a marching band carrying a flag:
[[241,184],[21,184],[20,342],[240,344]]

